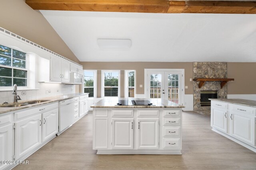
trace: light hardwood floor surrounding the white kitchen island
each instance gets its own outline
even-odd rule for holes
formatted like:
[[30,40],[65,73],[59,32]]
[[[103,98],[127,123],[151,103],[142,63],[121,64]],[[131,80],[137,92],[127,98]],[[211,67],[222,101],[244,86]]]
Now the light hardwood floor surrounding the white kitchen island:
[[183,112],[182,128],[182,155],[96,155],[89,113],[14,169],[256,169],[256,153],[212,131],[210,115]]

